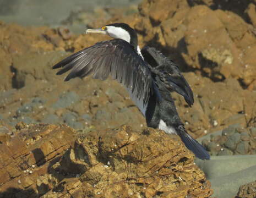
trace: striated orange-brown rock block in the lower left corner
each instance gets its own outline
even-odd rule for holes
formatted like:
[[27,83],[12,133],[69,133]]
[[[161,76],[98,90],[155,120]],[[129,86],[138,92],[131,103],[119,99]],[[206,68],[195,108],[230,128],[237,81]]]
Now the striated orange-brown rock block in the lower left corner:
[[25,123],[16,128],[12,138],[0,144],[0,197],[37,197],[37,178],[69,149],[74,130]]

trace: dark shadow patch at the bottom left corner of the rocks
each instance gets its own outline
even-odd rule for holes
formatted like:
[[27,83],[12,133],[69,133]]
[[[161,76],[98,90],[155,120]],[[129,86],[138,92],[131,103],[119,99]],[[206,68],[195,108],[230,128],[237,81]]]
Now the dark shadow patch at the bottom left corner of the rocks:
[[8,188],[6,191],[0,192],[0,198],[37,198],[39,195],[34,189]]

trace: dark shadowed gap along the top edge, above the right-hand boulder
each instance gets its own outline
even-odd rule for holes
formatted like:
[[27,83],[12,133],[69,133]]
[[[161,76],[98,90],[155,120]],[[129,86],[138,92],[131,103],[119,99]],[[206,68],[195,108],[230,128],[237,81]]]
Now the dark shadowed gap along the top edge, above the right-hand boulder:
[[233,13],[236,13],[240,17],[242,17],[247,23],[251,23],[248,14],[245,12],[250,3],[256,5],[252,0],[242,0],[242,1],[231,1],[231,0],[213,0],[212,2],[206,3],[203,0],[187,0],[188,4],[192,7],[194,5],[208,5],[211,9],[222,9],[227,10]]

